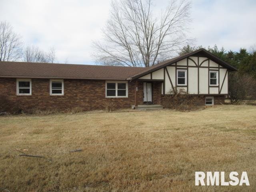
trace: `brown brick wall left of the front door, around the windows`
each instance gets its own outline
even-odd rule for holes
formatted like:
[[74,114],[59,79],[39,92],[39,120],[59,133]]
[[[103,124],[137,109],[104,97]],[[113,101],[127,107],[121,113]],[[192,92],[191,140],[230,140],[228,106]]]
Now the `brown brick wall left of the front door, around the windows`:
[[[104,80],[64,80],[64,96],[50,96],[49,79],[32,79],[32,95],[16,95],[16,78],[0,78],[0,95],[6,98],[5,107],[9,112],[18,110],[57,109],[66,110],[80,107],[83,110],[105,109],[109,102],[113,108],[130,108],[134,105],[134,83],[128,83],[128,98],[106,98]],[[143,103],[143,84],[138,85],[138,96]],[[0,97],[0,98],[1,98]],[[2,107],[3,108],[3,107]]]

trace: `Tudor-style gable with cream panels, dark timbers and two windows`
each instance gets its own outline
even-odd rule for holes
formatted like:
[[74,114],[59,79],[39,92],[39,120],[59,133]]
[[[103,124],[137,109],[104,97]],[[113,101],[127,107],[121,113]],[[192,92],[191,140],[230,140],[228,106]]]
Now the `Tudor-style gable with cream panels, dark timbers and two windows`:
[[195,95],[228,94],[230,66],[210,52],[200,49],[190,54],[168,60],[149,68],[131,79],[138,81],[162,81],[162,93],[184,89]]

